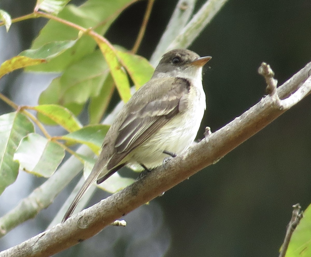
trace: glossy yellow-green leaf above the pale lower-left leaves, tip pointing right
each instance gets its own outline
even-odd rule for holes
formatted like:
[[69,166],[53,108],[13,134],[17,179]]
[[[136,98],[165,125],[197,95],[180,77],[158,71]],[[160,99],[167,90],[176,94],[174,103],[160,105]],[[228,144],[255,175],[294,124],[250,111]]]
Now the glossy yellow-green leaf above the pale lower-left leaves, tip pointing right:
[[69,132],[76,131],[82,127],[76,116],[67,108],[60,105],[37,105],[30,109],[36,110],[48,119],[61,125]]

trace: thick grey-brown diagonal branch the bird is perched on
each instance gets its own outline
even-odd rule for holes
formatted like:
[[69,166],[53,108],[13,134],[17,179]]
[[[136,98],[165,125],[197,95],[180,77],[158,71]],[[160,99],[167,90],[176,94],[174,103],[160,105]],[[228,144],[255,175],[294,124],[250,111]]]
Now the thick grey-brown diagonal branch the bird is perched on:
[[[215,133],[206,137],[164,166],[156,168],[127,188],[100,201],[29,240],[0,253],[0,257],[51,256],[94,236],[162,192],[216,163],[311,92],[311,63],[276,90],[280,101],[269,94]],[[286,98],[287,97],[287,98]],[[280,104],[281,103],[281,104]]]

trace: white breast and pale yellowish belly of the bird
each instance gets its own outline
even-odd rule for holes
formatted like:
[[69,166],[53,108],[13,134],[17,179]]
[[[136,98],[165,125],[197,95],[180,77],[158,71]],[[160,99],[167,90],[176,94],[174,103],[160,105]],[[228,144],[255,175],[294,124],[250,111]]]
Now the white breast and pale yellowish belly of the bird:
[[163,153],[164,150],[178,155],[193,143],[206,109],[202,82],[195,83],[197,86],[191,86],[188,93],[187,110],[177,114],[155,135],[133,150],[130,159],[135,161],[131,161],[129,166],[136,166],[137,163],[142,163],[148,168],[159,166],[164,158],[168,157]]

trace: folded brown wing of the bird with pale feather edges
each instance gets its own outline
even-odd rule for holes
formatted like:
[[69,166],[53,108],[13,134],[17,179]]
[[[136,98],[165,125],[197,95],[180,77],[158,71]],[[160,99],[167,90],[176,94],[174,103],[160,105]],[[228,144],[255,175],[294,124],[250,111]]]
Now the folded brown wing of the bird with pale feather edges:
[[[144,87],[142,89],[148,91],[148,85]],[[144,143],[178,114],[181,111],[181,102],[184,105],[184,101],[181,100],[189,92],[189,88],[190,83],[186,79],[168,78],[165,81],[161,80],[161,84],[153,90],[149,90],[146,97],[151,95],[151,99],[148,99],[145,105],[137,101],[137,105],[134,104],[132,110],[128,111],[128,115],[118,128],[115,153],[109,160],[107,169],[116,166],[133,149]],[[134,96],[139,99],[143,94],[144,91]]]

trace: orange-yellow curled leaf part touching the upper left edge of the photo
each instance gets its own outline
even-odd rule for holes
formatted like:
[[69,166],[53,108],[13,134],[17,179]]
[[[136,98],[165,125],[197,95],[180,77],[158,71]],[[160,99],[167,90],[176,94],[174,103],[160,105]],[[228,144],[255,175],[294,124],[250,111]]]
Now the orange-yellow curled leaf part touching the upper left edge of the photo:
[[26,56],[14,56],[0,66],[0,78],[14,70],[46,62],[45,59],[33,59]]

